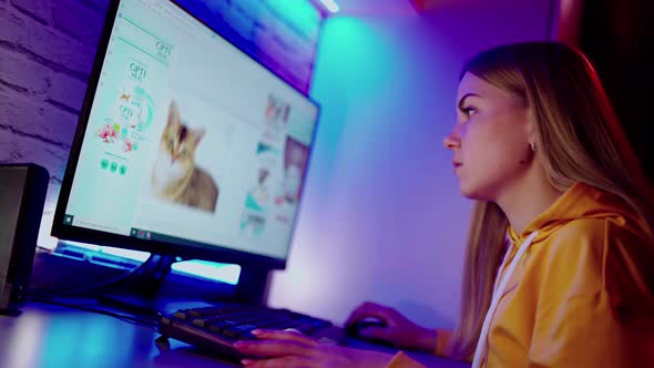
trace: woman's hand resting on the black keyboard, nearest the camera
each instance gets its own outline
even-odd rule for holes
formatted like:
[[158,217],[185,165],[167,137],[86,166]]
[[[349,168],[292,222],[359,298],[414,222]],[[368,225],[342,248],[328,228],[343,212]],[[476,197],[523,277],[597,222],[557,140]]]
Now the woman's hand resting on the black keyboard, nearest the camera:
[[262,359],[244,359],[248,368],[349,368],[386,367],[392,355],[323,345],[294,331],[254,330],[258,340],[239,341],[234,347]]

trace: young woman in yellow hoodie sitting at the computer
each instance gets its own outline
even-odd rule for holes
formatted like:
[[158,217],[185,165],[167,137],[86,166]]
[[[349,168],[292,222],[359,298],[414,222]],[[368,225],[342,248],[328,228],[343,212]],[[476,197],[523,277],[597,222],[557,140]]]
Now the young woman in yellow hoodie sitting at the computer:
[[[461,73],[444,145],[476,200],[456,331],[364,304],[368,337],[473,367],[654,367],[654,197],[597,75],[555,42],[498,47]],[[259,331],[247,367],[420,367]]]

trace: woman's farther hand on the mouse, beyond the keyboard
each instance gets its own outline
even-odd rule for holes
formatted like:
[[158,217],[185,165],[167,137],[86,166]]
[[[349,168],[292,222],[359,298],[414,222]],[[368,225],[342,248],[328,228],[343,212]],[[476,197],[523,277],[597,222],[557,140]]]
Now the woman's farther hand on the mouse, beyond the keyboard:
[[368,301],[358,306],[345,323],[345,327],[370,317],[381,319],[386,326],[365,328],[359,331],[361,337],[429,352],[436,349],[436,330],[418,326],[397,310],[375,303]]

